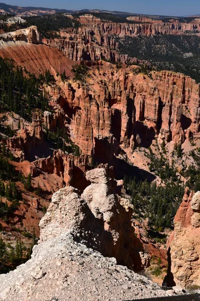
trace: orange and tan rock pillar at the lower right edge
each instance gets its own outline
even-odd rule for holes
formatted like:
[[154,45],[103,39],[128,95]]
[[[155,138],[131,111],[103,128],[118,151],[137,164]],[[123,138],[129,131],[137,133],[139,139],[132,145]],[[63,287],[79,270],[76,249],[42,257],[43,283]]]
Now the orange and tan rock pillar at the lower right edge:
[[170,243],[171,272],[176,285],[200,285],[200,192],[188,188],[174,218]]

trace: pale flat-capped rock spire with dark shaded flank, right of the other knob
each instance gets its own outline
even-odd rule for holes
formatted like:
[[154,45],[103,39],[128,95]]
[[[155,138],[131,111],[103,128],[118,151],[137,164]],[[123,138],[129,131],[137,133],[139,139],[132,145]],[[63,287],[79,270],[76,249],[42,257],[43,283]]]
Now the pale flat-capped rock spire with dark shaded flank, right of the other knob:
[[92,184],[84,190],[81,199],[87,203],[95,220],[105,231],[103,235],[102,231],[97,231],[99,234],[95,235],[97,245],[99,244],[97,250],[105,256],[115,257],[118,263],[134,270],[147,267],[148,255],[136,238],[131,223],[133,208],[127,200],[114,193],[117,184],[110,170],[91,170],[86,173],[86,179]]

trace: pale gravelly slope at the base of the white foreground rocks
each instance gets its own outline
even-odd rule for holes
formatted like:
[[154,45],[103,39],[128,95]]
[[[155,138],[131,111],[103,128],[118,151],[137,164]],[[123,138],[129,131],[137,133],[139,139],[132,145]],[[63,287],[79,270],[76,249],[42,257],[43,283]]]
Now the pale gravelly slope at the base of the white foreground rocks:
[[32,259],[7,275],[0,275],[1,300],[111,301],[166,296],[157,284],[114,258],[77,243],[63,233],[34,247]]

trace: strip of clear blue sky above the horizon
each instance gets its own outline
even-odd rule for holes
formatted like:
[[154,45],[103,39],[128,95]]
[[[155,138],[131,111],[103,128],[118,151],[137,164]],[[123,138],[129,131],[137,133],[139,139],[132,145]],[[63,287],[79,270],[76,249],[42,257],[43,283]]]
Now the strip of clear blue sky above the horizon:
[[2,0],[2,2],[24,7],[34,6],[68,10],[101,9],[171,16],[200,14],[200,0]]

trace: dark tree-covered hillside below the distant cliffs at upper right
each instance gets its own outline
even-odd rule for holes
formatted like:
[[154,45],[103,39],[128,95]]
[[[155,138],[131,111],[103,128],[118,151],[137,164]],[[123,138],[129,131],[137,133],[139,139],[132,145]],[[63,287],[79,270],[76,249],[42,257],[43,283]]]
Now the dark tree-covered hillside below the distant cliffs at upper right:
[[157,35],[117,40],[121,53],[147,60],[155,70],[181,72],[200,82],[199,36]]

